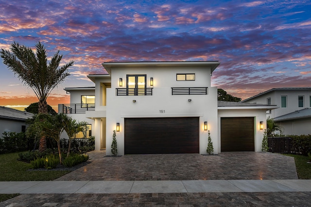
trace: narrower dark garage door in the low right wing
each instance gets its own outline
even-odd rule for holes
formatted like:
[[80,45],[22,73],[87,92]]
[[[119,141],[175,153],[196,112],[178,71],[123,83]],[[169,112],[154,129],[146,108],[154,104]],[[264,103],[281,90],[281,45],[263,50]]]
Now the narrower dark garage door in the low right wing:
[[221,151],[255,151],[254,117],[221,118]]

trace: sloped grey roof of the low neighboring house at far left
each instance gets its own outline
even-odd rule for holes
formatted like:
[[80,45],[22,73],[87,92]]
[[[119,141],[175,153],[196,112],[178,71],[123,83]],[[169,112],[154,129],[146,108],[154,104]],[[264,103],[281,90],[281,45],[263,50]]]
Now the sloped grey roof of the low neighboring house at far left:
[[1,119],[12,119],[19,121],[26,121],[33,117],[33,113],[27,111],[19,111],[16,109],[0,106],[0,118]]

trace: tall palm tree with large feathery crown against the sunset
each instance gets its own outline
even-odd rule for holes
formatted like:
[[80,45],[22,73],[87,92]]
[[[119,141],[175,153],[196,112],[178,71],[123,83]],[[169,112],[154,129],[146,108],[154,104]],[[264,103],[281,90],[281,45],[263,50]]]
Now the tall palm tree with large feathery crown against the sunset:
[[[68,69],[73,65],[73,61],[59,67],[63,55],[60,55],[58,50],[48,64],[46,48],[40,42],[35,45],[35,48],[36,52],[14,42],[11,44],[11,51],[2,48],[0,54],[3,64],[12,70],[24,85],[35,92],[39,99],[38,112],[48,113],[47,98],[51,91],[70,75]],[[45,138],[41,138],[39,150],[45,149]]]

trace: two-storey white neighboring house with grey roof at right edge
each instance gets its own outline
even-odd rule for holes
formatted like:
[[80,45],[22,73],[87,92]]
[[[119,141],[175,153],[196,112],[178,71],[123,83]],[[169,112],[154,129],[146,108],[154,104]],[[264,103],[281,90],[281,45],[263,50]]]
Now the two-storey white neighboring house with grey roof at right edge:
[[285,135],[311,134],[311,88],[273,88],[242,102],[277,105],[267,111]]

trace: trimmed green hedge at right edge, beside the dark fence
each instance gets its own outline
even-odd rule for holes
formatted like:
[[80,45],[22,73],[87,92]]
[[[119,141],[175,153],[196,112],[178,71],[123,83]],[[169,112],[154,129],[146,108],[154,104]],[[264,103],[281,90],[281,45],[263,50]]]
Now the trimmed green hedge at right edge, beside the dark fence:
[[295,154],[308,156],[311,152],[311,134],[308,135],[289,135],[293,141],[293,151]]

